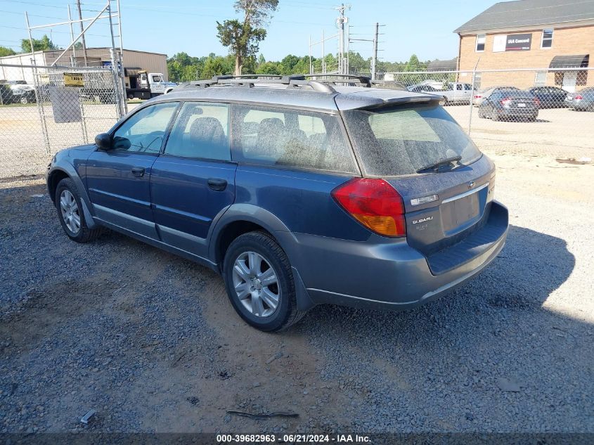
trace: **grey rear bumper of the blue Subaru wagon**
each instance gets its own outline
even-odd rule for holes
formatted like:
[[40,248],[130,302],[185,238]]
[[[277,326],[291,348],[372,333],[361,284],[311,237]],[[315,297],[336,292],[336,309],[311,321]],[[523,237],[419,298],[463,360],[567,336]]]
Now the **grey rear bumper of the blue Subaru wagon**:
[[474,243],[451,247],[459,251],[457,264],[439,273],[432,273],[427,258],[404,239],[372,236],[361,243],[293,233],[292,243],[283,244],[292,245],[288,255],[313,304],[410,309],[455,290],[497,257],[508,233],[508,210],[493,202],[489,221],[499,233],[485,237],[481,229]]

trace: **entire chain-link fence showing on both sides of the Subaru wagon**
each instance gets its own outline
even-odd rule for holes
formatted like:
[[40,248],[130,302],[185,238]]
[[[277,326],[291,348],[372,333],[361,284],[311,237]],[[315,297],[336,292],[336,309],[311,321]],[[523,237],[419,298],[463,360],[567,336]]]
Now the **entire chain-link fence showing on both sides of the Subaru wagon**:
[[[479,148],[593,157],[592,68],[385,73],[373,86],[436,94]],[[122,114],[112,70],[0,65],[0,179],[43,174]]]

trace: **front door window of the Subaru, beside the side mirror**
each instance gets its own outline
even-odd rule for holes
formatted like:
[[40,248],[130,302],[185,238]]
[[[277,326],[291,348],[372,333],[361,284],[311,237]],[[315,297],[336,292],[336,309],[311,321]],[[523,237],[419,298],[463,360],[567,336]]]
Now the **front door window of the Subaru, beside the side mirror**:
[[159,153],[177,102],[157,103],[131,115],[113,134],[114,148]]

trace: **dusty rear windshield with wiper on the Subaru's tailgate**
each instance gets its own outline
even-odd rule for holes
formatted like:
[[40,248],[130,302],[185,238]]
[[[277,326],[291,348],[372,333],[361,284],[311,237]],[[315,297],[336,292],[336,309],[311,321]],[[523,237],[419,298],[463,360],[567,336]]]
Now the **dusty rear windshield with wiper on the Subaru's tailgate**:
[[349,110],[344,117],[370,176],[415,174],[434,162],[461,156],[456,165],[481,157],[477,146],[439,105],[397,105]]

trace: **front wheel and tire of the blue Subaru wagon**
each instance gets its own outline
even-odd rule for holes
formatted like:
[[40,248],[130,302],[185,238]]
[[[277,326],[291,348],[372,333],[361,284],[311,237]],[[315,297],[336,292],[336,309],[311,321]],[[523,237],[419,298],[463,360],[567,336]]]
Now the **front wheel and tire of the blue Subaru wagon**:
[[74,181],[65,178],[56,187],[58,219],[68,238],[77,243],[87,243],[101,235],[101,228],[89,228]]

